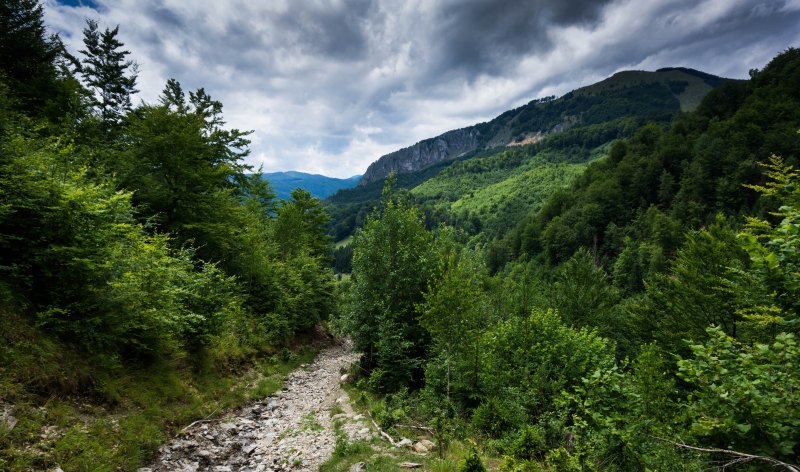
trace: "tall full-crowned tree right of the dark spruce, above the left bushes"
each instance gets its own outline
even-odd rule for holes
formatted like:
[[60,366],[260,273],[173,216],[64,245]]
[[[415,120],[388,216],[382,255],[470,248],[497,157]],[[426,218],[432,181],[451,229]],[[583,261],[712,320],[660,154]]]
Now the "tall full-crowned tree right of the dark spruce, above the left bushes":
[[120,185],[135,191],[142,216],[155,217],[161,229],[183,240],[210,244],[201,254],[217,260],[227,243],[225,235],[214,234],[231,227],[223,224],[232,216],[225,208],[238,206],[235,197],[244,193],[247,198],[255,190],[244,177],[251,168],[241,162],[249,133],[220,128],[221,113],[222,105],[202,89],[187,101],[180,84],[170,79],[161,105],[142,105],[131,113],[125,155],[107,163]]

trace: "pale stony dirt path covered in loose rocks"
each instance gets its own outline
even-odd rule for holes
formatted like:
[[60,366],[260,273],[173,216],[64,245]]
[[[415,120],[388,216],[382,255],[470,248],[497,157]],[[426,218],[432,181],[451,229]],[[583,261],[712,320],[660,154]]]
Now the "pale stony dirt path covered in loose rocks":
[[[347,345],[320,351],[311,365],[289,375],[283,390],[221,419],[195,424],[162,446],[156,462],[139,472],[317,470],[336,443],[333,405],[352,412],[339,379],[341,369],[357,357]],[[356,424],[349,426],[354,430]]]

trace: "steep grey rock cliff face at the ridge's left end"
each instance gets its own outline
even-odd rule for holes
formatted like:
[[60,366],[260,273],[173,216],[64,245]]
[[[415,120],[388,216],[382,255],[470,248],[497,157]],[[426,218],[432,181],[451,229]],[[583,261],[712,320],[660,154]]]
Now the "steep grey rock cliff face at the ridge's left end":
[[413,146],[382,156],[370,164],[359,185],[380,180],[391,172],[405,174],[428,167],[447,159],[454,159],[474,151],[481,142],[481,134],[474,127],[448,131],[435,138],[420,141]]

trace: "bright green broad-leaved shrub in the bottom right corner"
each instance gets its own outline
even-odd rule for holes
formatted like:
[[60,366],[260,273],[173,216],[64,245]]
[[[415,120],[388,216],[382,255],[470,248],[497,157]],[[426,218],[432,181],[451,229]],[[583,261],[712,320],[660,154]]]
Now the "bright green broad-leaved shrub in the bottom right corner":
[[769,344],[737,343],[720,328],[709,328],[705,344],[678,361],[680,377],[692,386],[687,398],[690,431],[719,448],[783,460],[799,452],[800,348],[793,334]]

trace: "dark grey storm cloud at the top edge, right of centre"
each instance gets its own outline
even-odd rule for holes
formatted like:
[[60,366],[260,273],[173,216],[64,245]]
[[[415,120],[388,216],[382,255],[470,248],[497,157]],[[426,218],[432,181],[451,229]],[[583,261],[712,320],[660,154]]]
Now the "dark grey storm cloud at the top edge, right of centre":
[[437,13],[433,38],[447,71],[501,75],[509,61],[554,47],[550,30],[592,26],[610,0],[451,1]]

